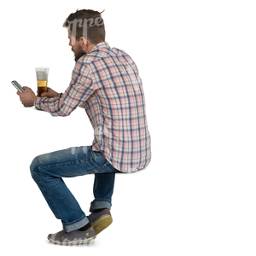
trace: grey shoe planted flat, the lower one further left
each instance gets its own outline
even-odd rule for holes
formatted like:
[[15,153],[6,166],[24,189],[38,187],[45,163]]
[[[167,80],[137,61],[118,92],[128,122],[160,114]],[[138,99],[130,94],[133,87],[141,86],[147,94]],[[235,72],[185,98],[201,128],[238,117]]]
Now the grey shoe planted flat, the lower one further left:
[[96,239],[96,232],[93,227],[85,231],[74,230],[65,232],[61,230],[58,233],[50,234],[48,240],[58,245],[77,245],[90,242]]

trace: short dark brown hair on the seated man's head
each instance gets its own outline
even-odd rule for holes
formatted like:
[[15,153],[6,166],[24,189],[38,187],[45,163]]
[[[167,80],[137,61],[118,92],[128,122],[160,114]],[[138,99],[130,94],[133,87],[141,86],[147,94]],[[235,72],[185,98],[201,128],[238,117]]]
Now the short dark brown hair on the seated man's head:
[[102,13],[91,9],[77,10],[69,15],[63,26],[71,30],[76,40],[83,37],[90,41],[90,44],[105,42],[105,26]]

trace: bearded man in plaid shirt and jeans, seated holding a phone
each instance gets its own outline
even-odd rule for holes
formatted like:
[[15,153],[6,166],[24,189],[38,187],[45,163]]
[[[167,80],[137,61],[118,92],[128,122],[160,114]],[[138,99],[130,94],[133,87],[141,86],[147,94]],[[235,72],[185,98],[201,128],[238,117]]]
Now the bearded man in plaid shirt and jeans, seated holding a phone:
[[[62,94],[48,89],[37,97],[29,88],[17,92],[25,107],[53,116],[84,108],[94,129],[92,146],[67,148],[32,160],[34,181],[63,230],[49,241],[73,245],[92,241],[112,223],[111,198],[116,172],[137,172],[151,159],[143,85],[137,66],[124,51],[105,42],[102,15],[78,10],[68,16],[69,45],[75,55],[72,80]],[[47,97],[46,97],[47,96]],[[77,132],[77,131],[71,131]],[[94,174],[94,201],[86,217],[61,177]]]

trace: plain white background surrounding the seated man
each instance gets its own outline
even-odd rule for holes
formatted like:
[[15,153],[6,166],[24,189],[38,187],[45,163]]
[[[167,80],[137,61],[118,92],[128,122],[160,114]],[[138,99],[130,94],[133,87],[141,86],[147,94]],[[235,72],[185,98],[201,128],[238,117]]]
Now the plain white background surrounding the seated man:
[[[4,255],[255,255],[254,1],[11,1],[1,3],[1,251]],[[29,166],[38,154],[90,145],[69,117],[24,108],[10,82],[36,90],[35,67],[64,91],[74,61],[66,17],[102,14],[111,47],[137,63],[152,162],[117,175],[113,224],[89,246],[47,241],[61,230]],[[93,176],[66,179],[89,213]],[[7,249],[7,250],[6,250]]]

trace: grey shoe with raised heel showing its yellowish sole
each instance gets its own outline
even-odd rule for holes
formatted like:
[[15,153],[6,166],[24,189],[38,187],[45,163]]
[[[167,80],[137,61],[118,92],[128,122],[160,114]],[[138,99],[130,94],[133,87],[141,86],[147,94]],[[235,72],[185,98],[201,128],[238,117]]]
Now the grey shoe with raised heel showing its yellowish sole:
[[87,218],[89,219],[90,224],[93,225],[96,235],[108,228],[113,222],[109,209],[104,209],[102,212],[92,212]]

